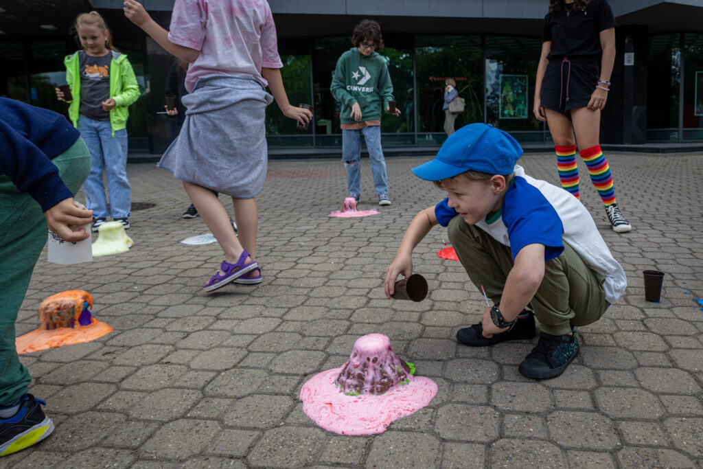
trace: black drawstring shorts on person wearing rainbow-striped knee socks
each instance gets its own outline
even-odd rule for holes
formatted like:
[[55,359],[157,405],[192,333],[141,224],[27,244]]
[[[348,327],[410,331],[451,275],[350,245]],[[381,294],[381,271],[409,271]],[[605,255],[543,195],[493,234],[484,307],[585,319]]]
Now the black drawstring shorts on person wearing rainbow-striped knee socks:
[[541,107],[571,118],[571,110],[585,108],[598,86],[598,63],[553,59],[542,79]]

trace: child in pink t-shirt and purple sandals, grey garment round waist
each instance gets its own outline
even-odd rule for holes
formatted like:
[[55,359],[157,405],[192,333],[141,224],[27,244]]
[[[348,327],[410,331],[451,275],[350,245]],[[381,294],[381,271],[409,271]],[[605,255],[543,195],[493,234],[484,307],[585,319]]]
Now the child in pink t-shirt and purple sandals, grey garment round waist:
[[[169,53],[191,65],[183,97],[186,120],[159,166],[171,171],[222,250],[219,271],[203,287],[262,282],[255,260],[257,205],[266,178],[266,105],[275,98],[287,117],[307,123],[312,114],[290,105],[276,46],[276,25],[266,0],[176,0],[170,31],[141,4],[124,0],[124,15]],[[273,98],[265,88],[269,87]],[[212,191],[231,195],[239,238]]]

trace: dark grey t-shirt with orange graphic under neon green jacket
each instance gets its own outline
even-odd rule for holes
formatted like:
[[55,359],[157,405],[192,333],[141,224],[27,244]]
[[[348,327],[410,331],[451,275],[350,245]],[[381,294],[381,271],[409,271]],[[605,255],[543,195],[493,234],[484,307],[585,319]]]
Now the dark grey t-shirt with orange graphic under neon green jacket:
[[93,57],[79,53],[81,72],[81,105],[79,113],[95,120],[110,120],[110,112],[103,110],[103,101],[110,97],[110,60],[112,52]]

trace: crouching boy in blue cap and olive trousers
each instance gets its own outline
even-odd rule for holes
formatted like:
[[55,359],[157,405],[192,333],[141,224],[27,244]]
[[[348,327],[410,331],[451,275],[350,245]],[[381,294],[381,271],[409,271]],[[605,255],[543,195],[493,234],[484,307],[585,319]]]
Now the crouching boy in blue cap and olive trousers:
[[627,283],[586,208],[564,189],[527,176],[515,165],[521,155],[509,134],[470,124],[437,158],[413,168],[448,197],[408,226],[386,269],[385,293],[393,294],[399,274],[413,273],[413,249],[432,226],[446,226],[472,283],[494,302],[480,323],[458,331],[458,341],[485,347],[530,339],[536,316],[539,341],[519,371],[555,378],[579,354],[574,327],[598,321]]

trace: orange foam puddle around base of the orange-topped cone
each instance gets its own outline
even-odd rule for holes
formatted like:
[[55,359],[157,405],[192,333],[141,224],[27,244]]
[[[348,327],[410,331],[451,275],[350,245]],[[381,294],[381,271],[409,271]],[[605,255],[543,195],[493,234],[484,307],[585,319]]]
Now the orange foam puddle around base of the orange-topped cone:
[[112,328],[107,324],[91,318],[90,326],[79,328],[58,328],[53,330],[34,329],[32,332],[15,339],[18,354],[39,352],[40,350],[53,349],[62,345],[83,344],[91,342],[103,335],[111,333]]

